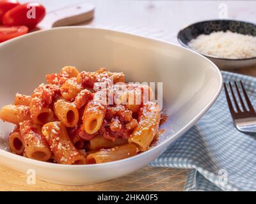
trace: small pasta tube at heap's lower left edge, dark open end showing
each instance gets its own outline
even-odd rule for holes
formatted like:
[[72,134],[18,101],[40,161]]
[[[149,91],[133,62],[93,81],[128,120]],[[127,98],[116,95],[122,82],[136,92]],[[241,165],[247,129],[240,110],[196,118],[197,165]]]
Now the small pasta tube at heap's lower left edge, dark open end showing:
[[10,133],[8,143],[13,153],[19,155],[24,153],[24,144],[19,129],[16,129],[13,131],[13,133]]

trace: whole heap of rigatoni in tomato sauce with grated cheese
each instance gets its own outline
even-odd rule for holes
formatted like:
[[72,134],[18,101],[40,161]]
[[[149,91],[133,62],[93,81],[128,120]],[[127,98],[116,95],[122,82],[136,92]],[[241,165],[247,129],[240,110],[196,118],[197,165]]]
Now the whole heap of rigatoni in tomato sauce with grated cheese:
[[46,75],[31,96],[17,93],[0,119],[15,124],[11,152],[60,164],[106,163],[148,150],[161,114],[148,85],[125,83],[106,68],[65,66]]

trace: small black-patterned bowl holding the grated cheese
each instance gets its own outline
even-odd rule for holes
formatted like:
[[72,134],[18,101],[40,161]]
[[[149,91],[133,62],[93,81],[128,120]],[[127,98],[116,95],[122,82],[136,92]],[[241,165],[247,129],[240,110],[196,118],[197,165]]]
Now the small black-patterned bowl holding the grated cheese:
[[[195,39],[200,34],[210,34],[217,31],[232,31],[234,33],[256,36],[256,25],[250,22],[237,20],[206,20],[185,27],[184,29],[179,31],[177,37],[179,43],[183,47],[187,47],[193,50],[193,48],[189,47],[188,45],[189,41]],[[198,52],[197,50],[194,51]],[[246,59],[226,59],[207,55],[204,53],[200,54],[211,59],[211,61],[213,61],[221,69],[236,69],[248,66],[255,66],[256,64],[256,56]]]

